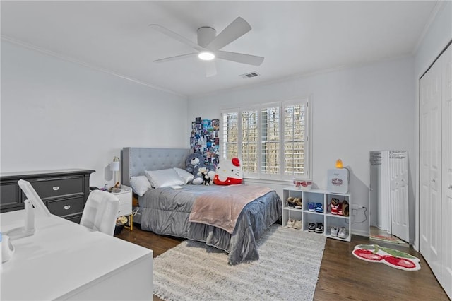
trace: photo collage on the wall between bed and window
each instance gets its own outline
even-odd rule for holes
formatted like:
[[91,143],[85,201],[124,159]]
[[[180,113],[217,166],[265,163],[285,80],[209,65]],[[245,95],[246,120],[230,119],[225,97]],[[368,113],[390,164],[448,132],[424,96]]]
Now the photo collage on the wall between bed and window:
[[191,122],[190,147],[201,152],[208,164],[217,167],[220,155],[220,119],[201,119]]

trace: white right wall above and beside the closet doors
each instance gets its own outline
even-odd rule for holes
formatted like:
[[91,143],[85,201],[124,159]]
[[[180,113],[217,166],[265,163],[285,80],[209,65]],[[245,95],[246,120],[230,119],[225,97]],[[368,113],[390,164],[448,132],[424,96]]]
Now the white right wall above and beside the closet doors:
[[[415,54],[415,158],[419,156],[419,81],[436,57],[452,40],[452,1],[442,1],[434,20],[429,24]],[[419,216],[419,160],[416,160],[415,216]],[[419,249],[419,221],[415,223],[415,249]]]

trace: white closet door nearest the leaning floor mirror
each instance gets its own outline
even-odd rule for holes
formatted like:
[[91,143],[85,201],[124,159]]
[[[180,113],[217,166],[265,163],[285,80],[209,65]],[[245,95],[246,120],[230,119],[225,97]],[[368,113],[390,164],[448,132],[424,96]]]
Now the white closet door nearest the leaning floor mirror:
[[420,80],[420,251],[441,282],[441,64]]

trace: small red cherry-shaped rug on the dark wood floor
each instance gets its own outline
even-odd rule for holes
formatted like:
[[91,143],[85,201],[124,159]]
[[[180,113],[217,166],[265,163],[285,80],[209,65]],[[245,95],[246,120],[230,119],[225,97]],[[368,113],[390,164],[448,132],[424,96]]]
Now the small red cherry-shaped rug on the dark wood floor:
[[421,269],[420,260],[417,257],[396,249],[381,247],[378,244],[357,244],[352,254],[358,259],[387,264],[404,271]]

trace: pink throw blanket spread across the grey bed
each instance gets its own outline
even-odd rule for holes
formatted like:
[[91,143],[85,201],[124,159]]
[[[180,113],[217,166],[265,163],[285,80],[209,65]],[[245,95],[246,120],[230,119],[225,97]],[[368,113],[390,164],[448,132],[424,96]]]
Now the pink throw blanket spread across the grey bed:
[[232,234],[244,206],[270,191],[273,189],[268,187],[230,185],[215,193],[201,194],[194,201],[189,221],[213,225]]

